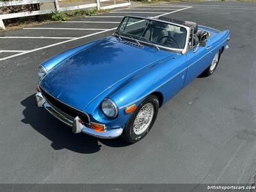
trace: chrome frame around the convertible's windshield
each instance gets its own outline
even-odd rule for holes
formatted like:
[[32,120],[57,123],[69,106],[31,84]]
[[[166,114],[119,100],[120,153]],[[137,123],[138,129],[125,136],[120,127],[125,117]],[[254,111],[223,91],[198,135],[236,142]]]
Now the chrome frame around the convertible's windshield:
[[[186,34],[186,41],[185,41],[185,45],[184,45],[184,48],[183,49],[175,49],[175,48],[171,48],[171,47],[166,47],[166,46],[163,46],[163,45],[158,45],[158,44],[154,44],[154,42],[152,42],[152,44],[156,45],[157,47],[160,47],[160,48],[163,48],[163,49],[167,49],[167,50],[170,50],[170,51],[174,51],[174,52],[181,52],[182,54],[185,54],[187,51],[188,51],[188,42],[189,42],[189,30],[190,28],[188,26],[184,26],[184,25],[181,25],[181,24],[176,24],[176,23],[173,23],[173,22],[168,22],[166,20],[159,20],[159,19],[153,19],[153,18],[150,18],[150,17],[140,17],[140,16],[132,16],[132,15],[127,15],[125,16],[122,21],[120,22],[118,28],[116,29],[115,33],[113,33],[113,35],[120,35],[117,33],[117,31],[119,30],[122,22],[124,21],[124,19],[126,17],[132,17],[132,18],[135,18],[135,19],[145,19],[145,20],[152,20],[152,21],[156,21],[156,22],[163,22],[163,23],[166,23],[166,24],[171,24],[173,26],[178,26],[178,27],[181,27],[181,28],[185,28],[186,31],[187,31],[187,34]],[[140,21],[138,21],[140,22]],[[134,22],[136,23],[136,22]],[[129,40],[132,40],[132,38],[129,38],[127,36],[122,36],[120,35],[121,37],[124,37],[124,38],[127,38]],[[150,45],[148,42],[145,42],[143,40],[139,40],[137,39],[139,42],[142,42],[143,44],[147,44],[147,45]]]

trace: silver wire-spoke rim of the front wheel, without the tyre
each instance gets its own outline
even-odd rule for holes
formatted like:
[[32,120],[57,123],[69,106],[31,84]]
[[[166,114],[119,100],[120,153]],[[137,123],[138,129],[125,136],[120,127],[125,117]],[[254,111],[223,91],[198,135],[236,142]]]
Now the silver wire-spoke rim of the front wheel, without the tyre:
[[138,112],[134,124],[133,131],[135,134],[142,134],[147,130],[154,116],[154,106],[152,103],[147,103]]

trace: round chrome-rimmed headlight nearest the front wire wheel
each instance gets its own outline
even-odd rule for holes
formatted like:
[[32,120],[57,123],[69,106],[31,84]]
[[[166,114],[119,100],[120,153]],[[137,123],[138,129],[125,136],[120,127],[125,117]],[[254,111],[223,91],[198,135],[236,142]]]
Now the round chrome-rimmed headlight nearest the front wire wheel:
[[118,109],[115,102],[111,99],[104,99],[101,102],[101,109],[108,118],[115,118],[118,114]]

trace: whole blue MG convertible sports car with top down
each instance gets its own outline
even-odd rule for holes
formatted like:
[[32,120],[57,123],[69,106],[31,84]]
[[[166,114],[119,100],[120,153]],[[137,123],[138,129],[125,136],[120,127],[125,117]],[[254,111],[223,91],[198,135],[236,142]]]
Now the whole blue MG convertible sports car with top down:
[[210,76],[229,31],[159,17],[124,17],[115,33],[38,66],[38,107],[97,138],[135,143],[158,109],[198,76]]

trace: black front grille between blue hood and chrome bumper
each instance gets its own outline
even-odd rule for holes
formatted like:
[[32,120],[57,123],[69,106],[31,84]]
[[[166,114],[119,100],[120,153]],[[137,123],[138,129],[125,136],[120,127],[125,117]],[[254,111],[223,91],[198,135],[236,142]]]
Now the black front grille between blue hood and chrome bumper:
[[81,120],[84,122],[84,124],[90,124],[88,115],[82,113],[81,111],[78,111],[77,109],[71,108],[67,104],[64,104],[63,102],[60,102],[60,100],[55,99],[50,95],[49,93],[45,92],[42,88],[40,88],[42,94],[44,95],[44,98],[49,102],[49,104],[56,110],[58,110],[61,114],[67,116],[67,118],[70,118],[74,120],[76,116],[79,116]]

